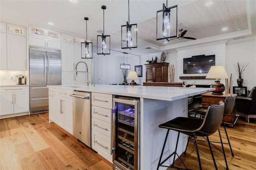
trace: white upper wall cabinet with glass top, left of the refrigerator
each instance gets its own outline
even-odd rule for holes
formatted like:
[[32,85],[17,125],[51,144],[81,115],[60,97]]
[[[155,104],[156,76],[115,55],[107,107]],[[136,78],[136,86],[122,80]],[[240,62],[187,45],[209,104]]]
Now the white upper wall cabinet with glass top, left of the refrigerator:
[[0,69],[26,70],[26,27],[1,22]]

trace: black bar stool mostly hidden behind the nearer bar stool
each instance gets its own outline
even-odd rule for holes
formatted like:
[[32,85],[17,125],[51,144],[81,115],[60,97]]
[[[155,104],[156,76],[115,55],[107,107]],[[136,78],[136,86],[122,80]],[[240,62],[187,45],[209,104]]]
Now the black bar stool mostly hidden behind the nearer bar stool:
[[[224,115],[223,115],[223,118],[230,115],[230,113],[232,113],[233,111],[233,108],[234,108],[234,105],[235,105],[235,101],[236,101],[236,97],[234,95],[231,95],[229,97],[226,97],[225,99],[225,107],[224,107]],[[196,109],[193,109],[191,111],[189,111],[189,115],[192,114],[192,113],[195,113],[196,115],[199,114],[200,115],[200,119],[202,118],[202,115],[205,115],[206,112],[207,112],[207,109],[208,107],[198,107]],[[222,142],[222,138],[220,136],[220,142],[213,142],[213,141],[210,141],[210,143],[222,143],[222,144],[229,144],[229,147],[230,147],[230,151],[231,151],[231,154],[232,156],[234,156],[234,153],[233,153],[233,150],[232,150],[232,147],[231,147],[231,144],[230,144],[230,141],[229,141],[229,138],[228,138],[228,132],[226,130],[226,126],[225,126],[225,123],[222,119],[222,124],[223,124],[223,127],[224,127],[224,130],[225,130],[225,133],[226,133],[226,136],[227,136],[227,140],[228,140],[228,143],[224,143]],[[213,144],[212,144],[213,145]],[[214,145],[213,145],[214,146]],[[188,147],[188,144],[187,144],[187,147]],[[216,146],[214,146],[215,148],[217,148]],[[187,148],[186,148],[187,149]],[[218,148],[217,148],[218,149]],[[220,150],[220,149],[218,149]],[[220,150],[220,152],[222,152]],[[185,153],[186,153],[186,150],[185,150]],[[222,152],[223,153],[223,152]],[[224,153],[223,153],[224,154]],[[224,158],[225,158],[225,162],[226,162],[226,167],[228,169],[228,163],[227,163],[227,160],[226,160],[226,155],[224,155]]]

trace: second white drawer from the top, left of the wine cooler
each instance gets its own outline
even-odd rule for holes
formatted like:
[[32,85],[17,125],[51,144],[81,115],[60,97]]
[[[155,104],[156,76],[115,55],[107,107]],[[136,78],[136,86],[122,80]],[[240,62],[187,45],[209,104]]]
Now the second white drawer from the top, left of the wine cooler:
[[111,109],[92,106],[92,117],[107,123],[111,123],[111,117],[112,117]]

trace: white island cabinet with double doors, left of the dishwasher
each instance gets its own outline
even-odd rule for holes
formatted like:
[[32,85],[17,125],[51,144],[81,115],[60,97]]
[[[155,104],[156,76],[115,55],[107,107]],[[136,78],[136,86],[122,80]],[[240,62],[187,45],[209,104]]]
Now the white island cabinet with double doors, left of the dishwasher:
[[72,134],[73,102],[70,94],[72,94],[72,90],[49,88],[49,121],[53,121]]

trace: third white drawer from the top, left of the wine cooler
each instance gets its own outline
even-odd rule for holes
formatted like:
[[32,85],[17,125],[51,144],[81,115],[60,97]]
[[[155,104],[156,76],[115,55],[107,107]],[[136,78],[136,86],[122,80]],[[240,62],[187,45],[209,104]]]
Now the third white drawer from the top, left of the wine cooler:
[[102,134],[109,136],[111,134],[111,124],[101,121],[99,119],[95,119],[92,117],[92,129],[101,132]]

